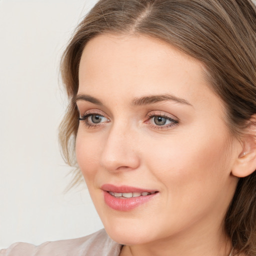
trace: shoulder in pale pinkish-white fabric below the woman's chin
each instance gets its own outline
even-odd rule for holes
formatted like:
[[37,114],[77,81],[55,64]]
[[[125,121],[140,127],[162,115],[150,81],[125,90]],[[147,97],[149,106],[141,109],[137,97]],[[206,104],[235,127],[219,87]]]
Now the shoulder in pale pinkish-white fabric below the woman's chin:
[[101,229],[84,237],[44,242],[38,246],[17,242],[0,250],[0,256],[118,256],[120,248],[121,245]]

